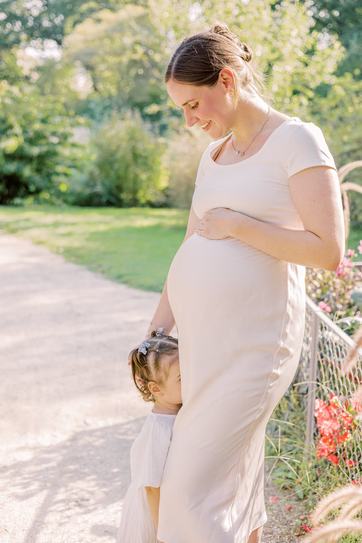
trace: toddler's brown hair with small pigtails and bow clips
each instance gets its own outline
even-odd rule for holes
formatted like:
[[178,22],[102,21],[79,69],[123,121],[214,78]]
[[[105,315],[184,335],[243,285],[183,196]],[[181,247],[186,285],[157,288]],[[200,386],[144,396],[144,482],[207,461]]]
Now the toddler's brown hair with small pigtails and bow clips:
[[[132,377],[137,390],[141,392],[145,402],[155,402],[154,396],[149,388],[148,383],[155,381],[160,388],[164,388],[166,381],[170,375],[172,364],[179,360],[179,340],[172,336],[158,334],[154,330],[150,338],[147,338],[147,343],[151,345],[147,347],[147,355],[143,352],[138,352],[138,347],[130,352],[130,361],[132,369]],[[165,358],[168,357],[169,361]],[[138,387],[135,375],[144,381],[144,388]]]

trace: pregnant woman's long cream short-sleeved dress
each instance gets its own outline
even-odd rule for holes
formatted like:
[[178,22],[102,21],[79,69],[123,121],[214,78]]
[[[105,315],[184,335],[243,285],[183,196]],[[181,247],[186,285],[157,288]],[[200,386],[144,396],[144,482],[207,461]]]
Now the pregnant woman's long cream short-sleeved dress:
[[[193,208],[217,207],[304,230],[288,178],[335,163],[322,131],[286,119],[249,158],[213,161],[232,134],[202,154]],[[171,263],[167,292],[177,327],[182,407],[160,488],[163,543],[247,543],[266,520],[265,428],[299,363],[306,268],[237,238],[197,233]]]

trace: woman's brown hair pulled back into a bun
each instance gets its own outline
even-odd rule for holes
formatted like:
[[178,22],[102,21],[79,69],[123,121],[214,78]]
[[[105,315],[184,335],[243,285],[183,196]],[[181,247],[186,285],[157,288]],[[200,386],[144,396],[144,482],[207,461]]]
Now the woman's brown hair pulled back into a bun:
[[251,88],[261,98],[270,98],[265,75],[253,61],[252,49],[220,20],[215,20],[212,28],[182,40],[168,63],[164,82],[174,79],[181,84],[213,87],[222,68],[229,68],[234,74],[235,105],[239,85],[242,89]]

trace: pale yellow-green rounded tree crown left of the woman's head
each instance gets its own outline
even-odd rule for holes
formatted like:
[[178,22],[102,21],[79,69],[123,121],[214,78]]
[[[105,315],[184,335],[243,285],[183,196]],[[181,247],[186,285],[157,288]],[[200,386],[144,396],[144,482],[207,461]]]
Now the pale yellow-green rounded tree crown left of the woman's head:
[[116,13],[103,9],[66,37],[62,62],[85,68],[93,87],[88,100],[105,99],[113,111],[142,111],[166,99],[161,41],[148,10],[136,5]]

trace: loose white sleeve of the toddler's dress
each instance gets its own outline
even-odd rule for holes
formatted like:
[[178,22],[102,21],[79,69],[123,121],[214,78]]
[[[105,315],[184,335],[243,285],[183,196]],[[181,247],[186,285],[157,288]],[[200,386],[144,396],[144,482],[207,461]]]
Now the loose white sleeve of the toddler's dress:
[[142,487],[160,487],[171,439],[172,427],[169,425],[160,422],[149,425],[147,435],[143,436],[142,450],[138,452],[134,470],[137,490]]

